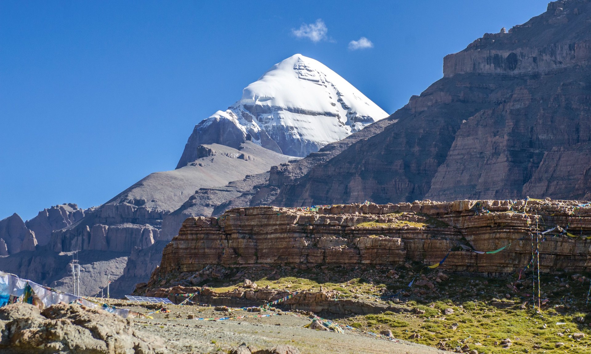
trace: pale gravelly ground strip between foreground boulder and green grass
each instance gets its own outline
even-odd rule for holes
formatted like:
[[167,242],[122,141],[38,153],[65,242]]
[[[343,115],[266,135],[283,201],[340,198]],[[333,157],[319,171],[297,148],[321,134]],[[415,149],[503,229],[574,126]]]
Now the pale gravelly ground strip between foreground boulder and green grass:
[[[139,313],[150,313],[153,304],[125,300],[96,299]],[[105,301],[106,300],[106,301]],[[259,349],[278,344],[298,347],[303,354],[316,353],[444,353],[432,347],[404,340],[376,337],[361,330],[345,329],[345,333],[304,328],[311,319],[296,313],[244,310],[216,311],[213,307],[167,305],[168,313],[154,313],[153,319],[133,319],[135,329],[163,337],[171,353],[228,353],[242,343]],[[212,317],[259,316],[227,320],[199,320]],[[193,319],[188,317],[193,316]]]

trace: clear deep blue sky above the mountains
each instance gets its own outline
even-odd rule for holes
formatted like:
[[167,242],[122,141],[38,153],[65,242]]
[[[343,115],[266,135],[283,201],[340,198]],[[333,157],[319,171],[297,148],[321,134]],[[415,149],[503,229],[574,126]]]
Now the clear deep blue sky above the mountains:
[[[95,206],[173,169],[195,124],[293,54],[322,61],[392,113],[441,78],[443,56],[546,5],[3,0],[0,219]],[[320,33],[298,38],[304,24]],[[354,50],[368,44],[361,37],[373,47]]]

